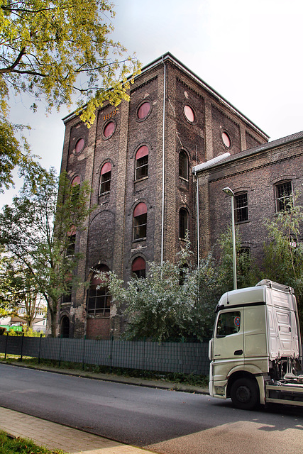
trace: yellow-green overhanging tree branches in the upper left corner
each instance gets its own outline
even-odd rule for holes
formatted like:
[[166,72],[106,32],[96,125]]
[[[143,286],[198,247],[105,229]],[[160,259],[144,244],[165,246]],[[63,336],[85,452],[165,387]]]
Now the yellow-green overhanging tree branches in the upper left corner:
[[[90,126],[105,101],[128,99],[128,74],[139,63],[109,38],[114,9],[106,0],[0,0],[0,189],[11,170],[36,171],[28,145],[16,133],[24,126],[8,120],[10,94],[44,99],[47,111],[72,105]],[[32,179],[34,181],[35,178]]]

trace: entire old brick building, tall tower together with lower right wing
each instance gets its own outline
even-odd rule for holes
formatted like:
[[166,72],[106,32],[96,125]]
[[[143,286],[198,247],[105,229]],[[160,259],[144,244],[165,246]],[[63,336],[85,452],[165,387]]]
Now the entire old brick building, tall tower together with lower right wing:
[[246,194],[243,240],[257,250],[258,219],[269,206],[275,211],[275,185],[297,186],[302,178],[296,169],[302,135],[268,143],[268,135],[170,53],[143,68],[130,95],[129,103],[100,109],[89,129],[73,114],[64,120],[62,170],[72,184],[89,181],[96,208],[75,236],[84,257],[77,274],[90,287],[61,302],[63,336],[119,336],[123,319],[106,289],[96,289],[92,268],[114,270],[125,281],[143,276],[147,262],[175,260],[187,230],[195,257],[204,255],[230,222],[224,186]]

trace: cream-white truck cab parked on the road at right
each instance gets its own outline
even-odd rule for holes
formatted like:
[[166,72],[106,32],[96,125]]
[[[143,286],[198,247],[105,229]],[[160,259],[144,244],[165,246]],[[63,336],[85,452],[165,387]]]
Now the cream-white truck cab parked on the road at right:
[[303,406],[302,344],[294,291],[267,279],[225,293],[209,342],[209,392],[240,409]]

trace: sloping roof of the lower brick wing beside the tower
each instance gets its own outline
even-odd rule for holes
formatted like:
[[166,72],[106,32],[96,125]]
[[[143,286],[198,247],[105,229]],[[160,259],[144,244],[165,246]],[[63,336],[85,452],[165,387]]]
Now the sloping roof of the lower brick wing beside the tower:
[[219,155],[217,156],[218,159],[216,158],[203,162],[202,164],[196,165],[192,168],[192,173],[196,174],[198,172],[203,172],[206,169],[209,169],[211,167],[216,167],[221,164],[226,164],[226,162],[232,162],[236,161],[238,159],[241,159],[242,157],[246,156],[251,156],[255,155],[257,153],[260,153],[260,151],[266,151],[270,150],[272,148],[277,148],[280,147],[281,145],[285,145],[287,143],[292,143],[295,142],[296,140],[303,139],[303,131],[300,131],[299,133],[294,133],[291,135],[287,135],[286,137],[282,137],[277,140],[272,140],[272,142],[268,143],[263,143],[262,145],[258,145],[257,147],[254,148],[248,148],[248,150],[243,150],[239,153],[236,153],[235,155],[228,155],[228,153],[224,153],[224,155]]

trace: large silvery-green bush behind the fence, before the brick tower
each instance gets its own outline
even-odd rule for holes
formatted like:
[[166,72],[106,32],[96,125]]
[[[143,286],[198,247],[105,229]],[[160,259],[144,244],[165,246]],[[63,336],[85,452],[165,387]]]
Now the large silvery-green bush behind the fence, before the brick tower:
[[132,277],[127,285],[115,272],[96,271],[109,287],[112,303],[128,316],[124,338],[167,341],[211,336],[214,308],[221,293],[221,269],[212,255],[191,265],[190,243],[177,255],[177,262],[152,262],[144,279]]

